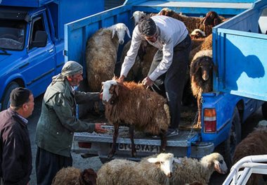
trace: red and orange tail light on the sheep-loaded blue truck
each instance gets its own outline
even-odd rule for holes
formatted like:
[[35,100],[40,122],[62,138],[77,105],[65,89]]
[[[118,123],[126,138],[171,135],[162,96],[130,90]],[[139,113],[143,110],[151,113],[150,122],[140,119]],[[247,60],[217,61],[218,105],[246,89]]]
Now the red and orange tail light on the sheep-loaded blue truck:
[[216,110],[204,109],[204,132],[216,132]]

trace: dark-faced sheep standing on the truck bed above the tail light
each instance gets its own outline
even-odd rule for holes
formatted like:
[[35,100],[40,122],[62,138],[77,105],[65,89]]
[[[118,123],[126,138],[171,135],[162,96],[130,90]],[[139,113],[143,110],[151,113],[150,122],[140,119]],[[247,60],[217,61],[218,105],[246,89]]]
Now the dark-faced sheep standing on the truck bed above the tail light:
[[202,93],[212,91],[213,67],[212,50],[196,53],[190,65],[191,89],[193,96],[197,98],[197,124],[194,125],[196,129],[201,128]]

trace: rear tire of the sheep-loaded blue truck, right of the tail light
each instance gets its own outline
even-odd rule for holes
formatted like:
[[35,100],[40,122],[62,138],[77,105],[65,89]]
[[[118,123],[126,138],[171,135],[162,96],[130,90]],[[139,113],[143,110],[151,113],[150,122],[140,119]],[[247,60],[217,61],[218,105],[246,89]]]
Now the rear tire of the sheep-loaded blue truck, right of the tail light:
[[235,108],[228,139],[226,139],[226,141],[223,141],[223,143],[219,144],[219,146],[215,148],[216,152],[221,153],[221,155],[223,155],[223,158],[226,161],[226,165],[228,167],[232,166],[233,154],[235,152],[237,144],[240,143],[240,141],[241,141],[240,115],[238,113],[237,108]]

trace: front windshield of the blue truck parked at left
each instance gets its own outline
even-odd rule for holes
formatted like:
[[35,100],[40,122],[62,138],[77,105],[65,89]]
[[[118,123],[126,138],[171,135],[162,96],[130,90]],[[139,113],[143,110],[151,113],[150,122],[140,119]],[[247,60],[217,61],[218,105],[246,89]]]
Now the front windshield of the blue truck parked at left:
[[0,48],[22,50],[25,46],[26,22],[0,20]]

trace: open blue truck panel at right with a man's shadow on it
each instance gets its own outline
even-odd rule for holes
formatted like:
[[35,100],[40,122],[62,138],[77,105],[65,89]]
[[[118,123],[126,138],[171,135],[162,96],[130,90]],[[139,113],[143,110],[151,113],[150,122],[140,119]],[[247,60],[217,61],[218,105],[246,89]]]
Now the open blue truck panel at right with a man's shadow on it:
[[267,101],[263,85],[267,83],[267,35],[259,29],[264,8],[267,1],[258,1],[253,8],[214,27],[213,55],[219,69],[214,77],[216,91]]

